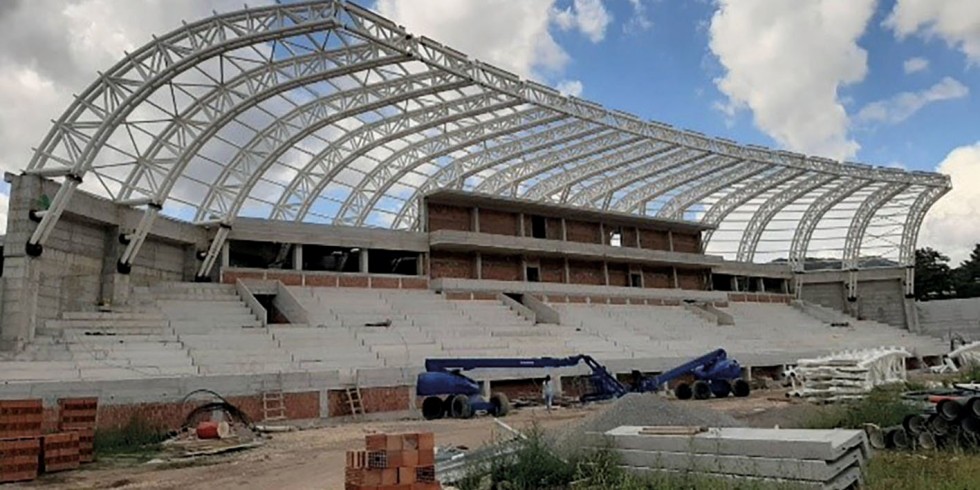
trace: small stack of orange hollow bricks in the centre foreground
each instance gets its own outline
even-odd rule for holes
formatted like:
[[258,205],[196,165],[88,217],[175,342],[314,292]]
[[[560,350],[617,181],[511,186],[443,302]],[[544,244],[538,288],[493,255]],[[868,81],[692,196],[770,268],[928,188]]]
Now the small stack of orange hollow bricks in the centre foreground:
[[346,490],[439,490],[431,432],[371,434],[347,452]]

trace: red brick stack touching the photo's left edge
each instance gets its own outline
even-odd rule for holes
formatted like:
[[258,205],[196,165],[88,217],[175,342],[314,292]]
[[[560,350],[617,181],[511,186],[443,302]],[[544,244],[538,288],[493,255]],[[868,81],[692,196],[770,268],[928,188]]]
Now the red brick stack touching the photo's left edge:
[[0,483],[37,478],[41,400],[0,400]]

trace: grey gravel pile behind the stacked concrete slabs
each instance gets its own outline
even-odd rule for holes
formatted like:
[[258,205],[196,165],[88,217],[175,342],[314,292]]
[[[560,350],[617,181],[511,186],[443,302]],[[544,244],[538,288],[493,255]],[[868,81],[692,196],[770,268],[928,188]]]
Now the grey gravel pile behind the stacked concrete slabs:
[[678,402],[654,393],[630,393],[578,425],[563,428],[554,436],[555,446],[563,452],[574,451],[594,442],[587,433],[606,432],[622,425],[741,427],[745,424],[697,401]]

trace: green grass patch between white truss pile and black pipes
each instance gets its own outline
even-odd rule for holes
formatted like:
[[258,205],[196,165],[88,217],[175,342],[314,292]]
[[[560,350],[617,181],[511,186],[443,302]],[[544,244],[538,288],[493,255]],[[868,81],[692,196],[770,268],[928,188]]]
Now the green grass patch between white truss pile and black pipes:
[[864,424],[890,427],[902,423],[906,415],[921,409],[902,399],[904,386],[879,387],[850,403],[826,405],[805,422],[808,429],[860,429]]

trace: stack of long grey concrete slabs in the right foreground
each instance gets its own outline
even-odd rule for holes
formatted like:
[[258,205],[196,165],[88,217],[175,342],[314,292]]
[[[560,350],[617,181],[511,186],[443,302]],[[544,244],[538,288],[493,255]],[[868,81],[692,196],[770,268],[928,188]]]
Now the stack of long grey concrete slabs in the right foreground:
[[860,482],[870,452],[859,430],[659,429],[623,426],[605,435],[621,464],[635,473],[693,473],[799,488],[850,488]]

